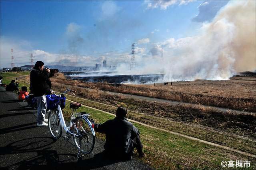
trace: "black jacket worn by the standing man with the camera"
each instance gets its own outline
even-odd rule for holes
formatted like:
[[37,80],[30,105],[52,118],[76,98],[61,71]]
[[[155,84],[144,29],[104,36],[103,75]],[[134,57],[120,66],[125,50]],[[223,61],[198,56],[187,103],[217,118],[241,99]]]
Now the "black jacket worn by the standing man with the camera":
[[44,73],[41,70],[33,68],[30,72],[31,93],[35,96],[43,96],[44,94],[49,94],[50,86],[46,82],[49,76],[49,72]]

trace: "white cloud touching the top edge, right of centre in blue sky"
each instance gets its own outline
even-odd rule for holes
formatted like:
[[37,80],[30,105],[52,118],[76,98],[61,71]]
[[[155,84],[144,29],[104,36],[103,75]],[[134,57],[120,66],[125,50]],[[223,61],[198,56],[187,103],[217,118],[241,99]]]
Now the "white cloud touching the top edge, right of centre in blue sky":
[[169,6],[178,4],[179,6],[181,5],[186,5],[190,2],[193,2],[192,0],[150,0],[150,1],[145,1],[147,4],[146,9],[154,9],[154,8],[160,8],[161,10],[166,10]]

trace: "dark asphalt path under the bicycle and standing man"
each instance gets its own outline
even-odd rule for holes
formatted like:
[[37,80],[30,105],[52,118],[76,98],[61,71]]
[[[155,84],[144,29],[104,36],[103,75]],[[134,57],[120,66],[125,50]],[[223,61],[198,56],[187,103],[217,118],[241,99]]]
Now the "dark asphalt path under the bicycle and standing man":
[[132,158],[127,162],[102,156],[104,142],[96,138],[92,153],[76,159],[72,138],[54,140],[48,126],[36,126],[36,110],[17,100],[13,92],[0,88],[1,169],[152,169]]

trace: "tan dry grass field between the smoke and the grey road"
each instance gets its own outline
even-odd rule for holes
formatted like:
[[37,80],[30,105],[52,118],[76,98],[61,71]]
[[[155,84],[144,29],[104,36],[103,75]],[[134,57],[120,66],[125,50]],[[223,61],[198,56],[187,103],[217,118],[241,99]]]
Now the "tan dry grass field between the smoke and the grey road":
[[52,79],[52,82],[85,88],[256,112],[256,82],[232,81],[236,82],[229,82],[228,80],[197,80],[191,82],[174,82],[172,86],[170,83],[166,86],[163,84],[156,84],[155,86],[154,84],[119,84],[116,86],[116,84],[108,83]]

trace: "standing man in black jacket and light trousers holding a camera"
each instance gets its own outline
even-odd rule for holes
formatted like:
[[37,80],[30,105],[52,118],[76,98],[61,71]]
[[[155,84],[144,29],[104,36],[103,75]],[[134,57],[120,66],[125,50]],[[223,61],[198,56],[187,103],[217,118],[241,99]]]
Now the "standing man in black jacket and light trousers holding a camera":
[[56,71],[50,73],[50,69],[44,70],[44,62],[37,61],[30,72],[30,90],[34,94],[37,102],[37,126],[48,126],[46,114],[46,94],[50,94],[50,86],[47,80],[53,76]]

